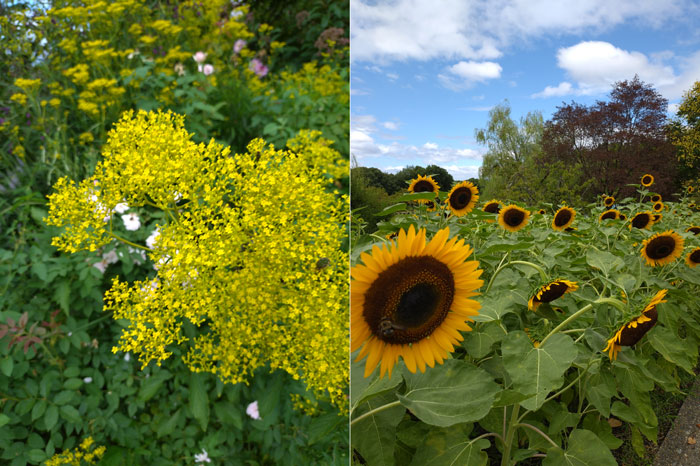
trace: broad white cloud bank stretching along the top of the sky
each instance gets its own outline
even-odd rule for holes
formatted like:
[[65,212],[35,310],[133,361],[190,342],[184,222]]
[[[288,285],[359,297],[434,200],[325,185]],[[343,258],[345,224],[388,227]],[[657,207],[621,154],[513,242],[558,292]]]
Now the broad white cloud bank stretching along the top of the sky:
[[634,21],[660,28],[697,14],[692,0],[353,0],[353,61],[493,60],[547,34],[600,33]]

